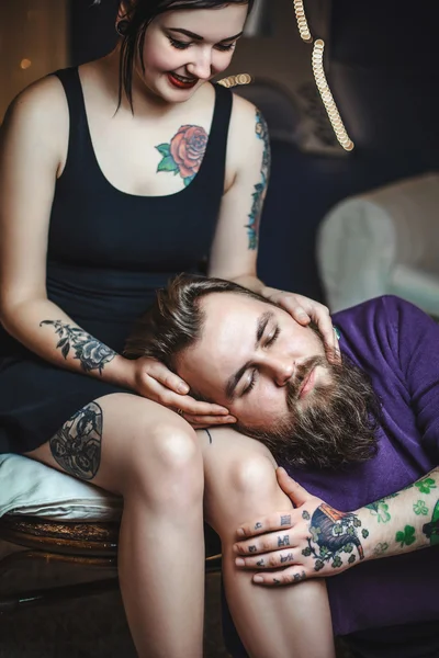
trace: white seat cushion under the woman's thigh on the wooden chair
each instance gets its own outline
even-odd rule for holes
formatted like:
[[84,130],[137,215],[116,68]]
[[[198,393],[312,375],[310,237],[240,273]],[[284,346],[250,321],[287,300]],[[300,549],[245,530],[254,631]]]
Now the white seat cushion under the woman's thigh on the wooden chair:
[[122,499],[22,455],[0,455],[0,517],[115,521]]

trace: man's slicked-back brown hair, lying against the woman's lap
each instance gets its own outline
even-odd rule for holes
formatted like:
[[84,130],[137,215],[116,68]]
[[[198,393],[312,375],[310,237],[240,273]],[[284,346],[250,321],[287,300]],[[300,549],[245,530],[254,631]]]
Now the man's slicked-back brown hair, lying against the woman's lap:
[[128,359],[151,356],[176,372],[178,355],[201,338],[204,311],[200,300],[213,293],[235,293],[271,304],[232,281],[180,274],[168,287],[157,291],[155,303],[137,320],[124,355]]

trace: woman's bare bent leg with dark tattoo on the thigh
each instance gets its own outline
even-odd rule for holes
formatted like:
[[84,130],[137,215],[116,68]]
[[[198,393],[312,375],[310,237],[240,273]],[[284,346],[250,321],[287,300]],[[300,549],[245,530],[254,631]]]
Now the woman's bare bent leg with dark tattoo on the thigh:
[[138,655],[201,658],[203,465],[189,424],[117,394],[85,407],[27,456],[123,496],[119,570]]

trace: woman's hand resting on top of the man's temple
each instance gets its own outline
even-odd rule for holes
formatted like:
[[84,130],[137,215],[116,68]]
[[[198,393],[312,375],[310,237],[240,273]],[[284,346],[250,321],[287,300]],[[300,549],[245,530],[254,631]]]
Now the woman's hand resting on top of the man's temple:
[[326,306],[303,295],[277,288],[266,287],[262,290],[262,295],[282,306],[300,325],[306,326],[314,322],[322,334],[327,352],[339,353],[337,332],[333,327],[329,309]]

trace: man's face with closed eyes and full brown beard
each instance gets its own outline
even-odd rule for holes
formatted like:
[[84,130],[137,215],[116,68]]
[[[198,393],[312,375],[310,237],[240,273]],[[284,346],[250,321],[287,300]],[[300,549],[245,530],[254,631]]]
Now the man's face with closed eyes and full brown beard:
[[335,467],[376,451],[379,406],[368,377],[325,354],[319,336],[275,306],[233,293],[202,300],[202,338],[179,375],[229,409],[238,431],[283,464]]

